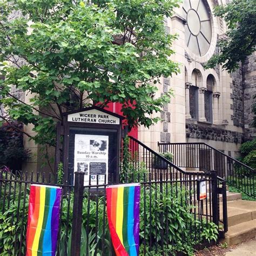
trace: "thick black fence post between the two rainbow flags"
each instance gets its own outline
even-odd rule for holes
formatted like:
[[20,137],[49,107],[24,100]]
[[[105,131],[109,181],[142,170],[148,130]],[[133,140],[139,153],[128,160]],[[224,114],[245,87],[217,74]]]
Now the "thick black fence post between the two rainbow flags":
[[73,203],[71,256],[80,256],[82,207],[84,193],[84,172],[75,172],[75,190]]

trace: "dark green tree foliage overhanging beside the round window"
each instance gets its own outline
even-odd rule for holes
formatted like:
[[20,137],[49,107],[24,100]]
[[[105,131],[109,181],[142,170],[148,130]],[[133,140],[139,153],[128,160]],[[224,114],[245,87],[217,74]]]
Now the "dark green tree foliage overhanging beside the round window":
[[233,0],[227,5],[216,6],[214,15],[223,18],[227,24],[227,38],[219,40],[220,53],[214,55],[206,68],[223,64],[232,72],[255,51],[256,5],[255,0]]

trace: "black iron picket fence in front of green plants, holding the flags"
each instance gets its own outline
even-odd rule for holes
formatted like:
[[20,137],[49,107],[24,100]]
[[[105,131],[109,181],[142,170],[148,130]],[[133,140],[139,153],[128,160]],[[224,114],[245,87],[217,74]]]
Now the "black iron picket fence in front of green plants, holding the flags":
[[[132,163],[134,166],[136,163]],[[171,165],[171,164],[170,164]],[[172,179],[167,170],[127,177],[140,182],[140,254],[162,253],[186,240],[199,244],[210,223],[219,225],[218,184],[215,173]],[[185,176],[184,176],[185,177]],[[207,198],[197,198],[197,180],[204,178]],[[57,255],[114,255],[106,216],[106,184],[84,186],[83,173],[75,186],[56,184],[44,173],[0,173],[0,254],[25,255],[31,184],[63,188]],[[81,253],[81,254],[80,254]],[[163,253],[164,255],[164,253]]]

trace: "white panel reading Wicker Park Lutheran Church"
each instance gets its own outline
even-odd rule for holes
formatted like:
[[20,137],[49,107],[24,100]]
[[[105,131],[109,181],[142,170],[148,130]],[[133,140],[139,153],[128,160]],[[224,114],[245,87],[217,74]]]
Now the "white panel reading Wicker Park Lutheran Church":
[[68,122],[93,123],[93,124],[119,124],[120,119],[111,114],[91,109],[68,115]]

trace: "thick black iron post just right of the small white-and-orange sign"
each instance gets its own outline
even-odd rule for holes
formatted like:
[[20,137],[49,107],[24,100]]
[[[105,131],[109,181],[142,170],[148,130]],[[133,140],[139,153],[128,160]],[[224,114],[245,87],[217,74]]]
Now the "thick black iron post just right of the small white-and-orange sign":
[[218,184],[217,184],[216,171],[211,171],[211,187],[212,187],[212,221],[217,226],[219,226]]

